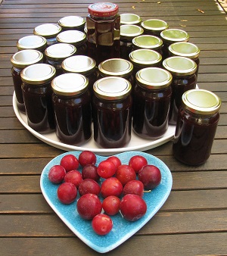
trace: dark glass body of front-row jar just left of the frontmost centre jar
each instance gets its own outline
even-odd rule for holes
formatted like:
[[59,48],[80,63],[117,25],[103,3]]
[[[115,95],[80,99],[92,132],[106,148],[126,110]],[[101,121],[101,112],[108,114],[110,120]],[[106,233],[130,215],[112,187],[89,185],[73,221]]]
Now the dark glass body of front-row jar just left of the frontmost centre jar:
[[91,95],[89,90],[75,96],[52,95],[56,135],[61,142],[81,145],[92,136]]

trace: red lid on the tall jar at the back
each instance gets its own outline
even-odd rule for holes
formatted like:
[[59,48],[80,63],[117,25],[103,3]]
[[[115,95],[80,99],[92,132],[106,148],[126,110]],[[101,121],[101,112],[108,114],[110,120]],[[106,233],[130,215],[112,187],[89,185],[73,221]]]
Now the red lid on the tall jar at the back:
[[118,13],[118,6],[113,3],[95,3],[89,5],[89,14],[95,17],[113,17]]

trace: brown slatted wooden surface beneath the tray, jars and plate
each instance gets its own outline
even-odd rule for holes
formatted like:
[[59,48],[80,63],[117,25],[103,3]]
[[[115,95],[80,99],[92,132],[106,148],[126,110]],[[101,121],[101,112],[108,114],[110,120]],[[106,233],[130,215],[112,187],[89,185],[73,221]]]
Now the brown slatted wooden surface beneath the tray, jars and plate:
[[[63,3],[64,2],[64,3]],[[120,13],[156,17],[187,31],[201,48],[197,84],[222,99],[221,117],[206,164],[188,167],[173,158],[172,143],[148,150],[173,174],[163,207],[107,255],[227,254],[227,16],[214,0],[113,1]],[[220,2],[220,1],[219,1]],[[3,0],[0,5],[0,254],[96,255],[51,210],[39,187],[40,173],[63,153],[36,139],[17,120],[10,58],[16,42],[41,23],[86,17],[91,1]]]

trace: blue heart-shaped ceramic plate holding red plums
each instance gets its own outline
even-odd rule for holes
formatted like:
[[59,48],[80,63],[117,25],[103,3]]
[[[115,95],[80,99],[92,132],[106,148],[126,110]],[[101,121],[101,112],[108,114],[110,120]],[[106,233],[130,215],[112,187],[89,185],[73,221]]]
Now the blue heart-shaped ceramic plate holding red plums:
[[[135,222],[129,222],[123,219],[119,213],[111,217],[113,220],[113,229],[110,231],[110,233],[108,233],[106,236],[99,236],[93,231],[90,220],[82,220],[82,218],[79,217],[79,214],[76,211],[76,201],[74,201],[72,204],[62,204],[60,201],[58,201],[58,185],[53,184],[48,180],[48,171],[53,165],[60,164],[61,158],[64,155],[73,154],[78,158],[80,153],[81,151],[70,151],[51,160],[45,166],[44,170],[42,170],[40,186],[42,194],[44,195],[48,204],[55,211],[55,213],[58,214],[61,220],[63,220],[64,223],[73,231],[73,233],[75,233],[79,239],[81,239],[86,243],[86,245],[89,245],[89,247],[93,248],[95,251],[104,253],[113,250],[113,248],[116,248],[118,245],[121,245],[126,241],[126,239],[129,239],[129,237],[135,234],[138,229],[141,229],[142,226],[151,220],[151,217],[157,213],[168,198],[172,188],[173,179],[166,164],[152,155],[141,151],[126,151],[118,154],[117,157],[120,158],[122,164],[128,164],[129,158],[134,155],[145,156],[145,158],[148,160],[148,164],[153,164],[160,169],[162,180],[159,186],[157,186],[151,192],[145,193],[143,197],[148,206],[145,216],[141,217],[141,219],[136,220]],[[96,165],[106,158],[107,157],[97,155]],[[77,195],[76,199],[78,198],[79,195]]]

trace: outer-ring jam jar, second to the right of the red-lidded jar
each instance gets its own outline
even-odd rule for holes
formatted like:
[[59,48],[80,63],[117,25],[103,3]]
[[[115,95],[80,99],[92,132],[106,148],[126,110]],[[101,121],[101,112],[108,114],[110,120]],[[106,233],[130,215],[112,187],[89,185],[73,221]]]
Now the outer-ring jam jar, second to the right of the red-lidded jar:
[[141,23],[141,27],[145,30],[145,35],[159,36],[163,30],[169,28],[169,24],[164,20],[149,19]]

